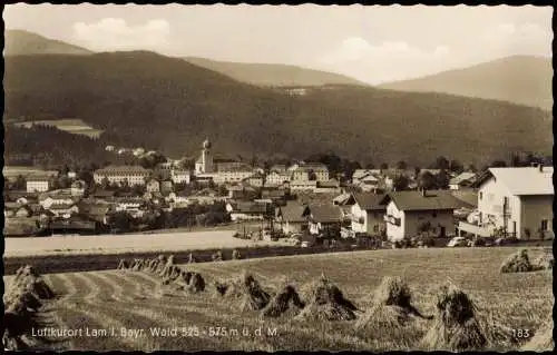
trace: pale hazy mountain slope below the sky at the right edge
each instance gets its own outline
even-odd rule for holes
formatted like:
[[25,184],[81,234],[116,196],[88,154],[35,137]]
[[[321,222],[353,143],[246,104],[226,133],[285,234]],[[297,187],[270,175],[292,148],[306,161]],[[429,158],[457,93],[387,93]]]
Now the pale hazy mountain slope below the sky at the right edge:
[[496,99],[550,111],[551,78],[550,58],[517,56],[379,87]]

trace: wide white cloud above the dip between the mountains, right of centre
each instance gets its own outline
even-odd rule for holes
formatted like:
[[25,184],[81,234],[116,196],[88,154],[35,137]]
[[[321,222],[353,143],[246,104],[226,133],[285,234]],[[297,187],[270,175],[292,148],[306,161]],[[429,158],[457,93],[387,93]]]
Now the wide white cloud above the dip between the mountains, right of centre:
[[317,66],[377,83],[424,75],[449,57],[449,47],[442,45],[422,50],[405,41],[371,45],[360,37],[349,37],[321,56]]

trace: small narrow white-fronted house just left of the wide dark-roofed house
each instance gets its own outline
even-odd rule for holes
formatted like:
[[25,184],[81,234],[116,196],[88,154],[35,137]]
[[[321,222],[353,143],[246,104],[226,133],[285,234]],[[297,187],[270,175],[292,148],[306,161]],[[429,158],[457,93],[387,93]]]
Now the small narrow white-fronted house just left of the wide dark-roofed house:
[[355,233],[379,235],[385,230],[385,205],[381,204],[384,195],[370,193],[352,194],[353,204],[350,209],[351,229]]

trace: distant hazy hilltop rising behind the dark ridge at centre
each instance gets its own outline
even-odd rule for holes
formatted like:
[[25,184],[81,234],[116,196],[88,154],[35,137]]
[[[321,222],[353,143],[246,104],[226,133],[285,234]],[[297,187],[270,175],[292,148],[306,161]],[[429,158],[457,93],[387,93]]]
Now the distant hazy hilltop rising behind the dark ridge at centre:
[[343,75],[286,65],[242,63],[186,57],[186,61],[234,78],[242,82],[263,87],[358,85],[359,80]]

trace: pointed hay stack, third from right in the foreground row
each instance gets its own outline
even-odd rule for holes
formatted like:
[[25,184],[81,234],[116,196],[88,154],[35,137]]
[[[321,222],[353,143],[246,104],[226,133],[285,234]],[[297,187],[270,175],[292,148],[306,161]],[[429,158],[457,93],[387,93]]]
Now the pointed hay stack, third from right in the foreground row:
[[353,321],[358,308],[324,275],[312,284],[307,305],[297,315],[311,321]]

